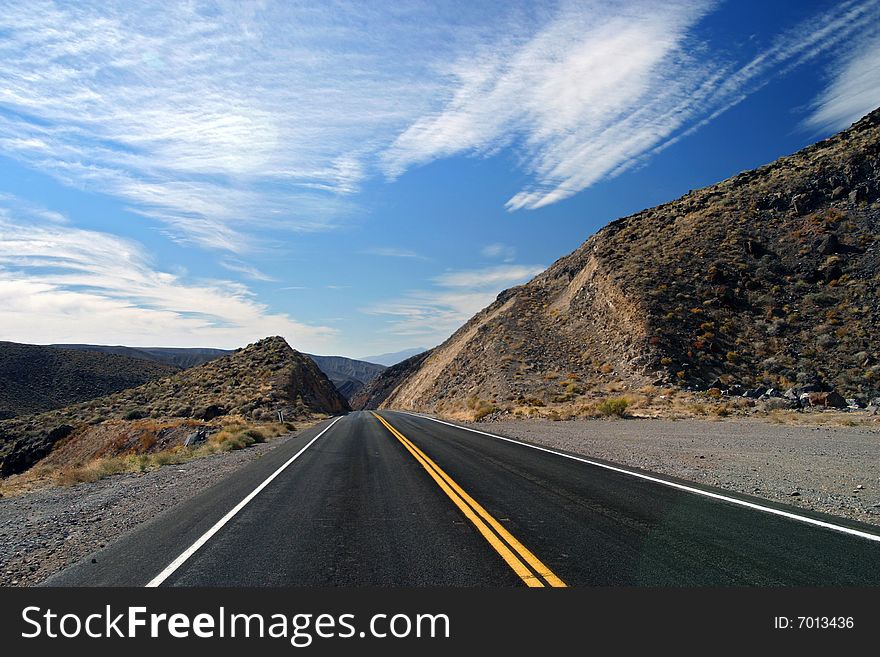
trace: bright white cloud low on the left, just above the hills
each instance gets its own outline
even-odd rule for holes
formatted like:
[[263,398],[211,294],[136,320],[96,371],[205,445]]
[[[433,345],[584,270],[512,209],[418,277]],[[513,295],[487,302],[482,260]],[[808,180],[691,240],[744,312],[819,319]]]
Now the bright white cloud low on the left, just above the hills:
[[186,282],[129,240],[0,209],[0,334],[31,343],[238,347],[282,335],[321,349],[335,331],[273,313],[247,287]]

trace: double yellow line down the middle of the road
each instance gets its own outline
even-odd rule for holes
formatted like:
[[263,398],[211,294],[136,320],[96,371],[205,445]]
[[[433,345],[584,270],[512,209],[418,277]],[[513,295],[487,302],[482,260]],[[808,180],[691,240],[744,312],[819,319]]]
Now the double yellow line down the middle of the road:
[[397,440],[412,454],[423,468],[431,475],[444,493],[455,503],[455,506],[470,520],[483,538],[488,541],[501,558],[519,575],[527,586],[532,587],[564,587],[563,582],[553,571],[541,563],[522,543],[507,531],[492,515],[480,504],[468,495],[452,478],[446,474],[439,465],[434,463],[428,456],[416,447],[411,440],[392,427],[385,418],[378,413],[373,413],[379,422],[391,432]]

